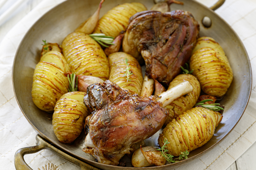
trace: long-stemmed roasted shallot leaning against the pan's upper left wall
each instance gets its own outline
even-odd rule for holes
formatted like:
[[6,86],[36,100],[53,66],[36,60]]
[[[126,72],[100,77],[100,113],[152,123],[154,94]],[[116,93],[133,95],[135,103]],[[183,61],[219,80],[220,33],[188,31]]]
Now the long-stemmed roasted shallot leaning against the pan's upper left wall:
[[91,34],[96,27],[99,16],[100,16],[100,8],[102,6],[102,3],[105,0],[101,0],[98,9],[94,12],[94,14],[88,18],[86,21],[84,21],[80,26],[76,28],[76,31],[86,33],[86,34]]

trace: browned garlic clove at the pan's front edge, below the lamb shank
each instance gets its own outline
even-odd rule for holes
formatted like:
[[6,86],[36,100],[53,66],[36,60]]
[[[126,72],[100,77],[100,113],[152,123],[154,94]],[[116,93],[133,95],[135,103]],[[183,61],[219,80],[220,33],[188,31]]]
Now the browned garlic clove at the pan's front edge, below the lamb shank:
[[160,151],[152,146],[141,147],[132,155],[132,165],[134,167],[146,167],[151,165],[165,165],[166,159],[161,155]]

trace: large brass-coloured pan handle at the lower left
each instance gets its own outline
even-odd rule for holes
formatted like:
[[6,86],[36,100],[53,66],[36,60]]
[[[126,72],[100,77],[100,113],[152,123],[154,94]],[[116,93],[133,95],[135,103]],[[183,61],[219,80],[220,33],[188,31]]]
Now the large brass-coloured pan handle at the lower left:
[[68,154],[60,151],[59,149],[55,148],[51,144],[47,143],[42,139],[39,135],[36,135],[36,141],[37,145],[36,146],[30,146],[26,148],[21,148],[19,149],[14,156],[14,165],[16,170],[32,170],[28,164],[24,160],[24,155],[26,154],[31,154],[31,153],[36,153],[39,152],[43,149],[48,149],[60,158],[75,164],[77,166],[80,166],[82,170],[99,170],[98,168],[95,168],[94,166],[91,166],[89,164],[86,164],[82,162],[81,160],[78,160],[72,156],[69,156]]

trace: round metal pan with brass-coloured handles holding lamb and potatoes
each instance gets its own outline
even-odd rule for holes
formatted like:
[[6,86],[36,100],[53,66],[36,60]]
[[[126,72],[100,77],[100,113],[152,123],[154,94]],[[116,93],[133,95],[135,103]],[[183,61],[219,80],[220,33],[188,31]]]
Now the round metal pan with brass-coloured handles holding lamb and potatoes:
[[[225,0],[219,0],[211,9],[193,0],[180,1],[184,2],[184,5],[172,4],[171,9],[190,11],[200,24],[200,36],[213,37],[220,43],[234,71],[233,82],[225,97],[220,101],[225,106],[223,119],[216,128],[212,139],[202,147],[191,151],[189,158],[186,160],[164,166],[144,168],[133,167],[131,159],[126,156],[121,159],[126,161],[126,167],[104,165],[96,162],[91,156],[82,151],[85,146],[85,135],[83,132],[73,144],[60,143],[52,129],[52,114],[38,109],[34,105],[31,97],[33,73],[36,64],[39,62],[40,50],[42,48],[41,42],[46,39],[48,42],[61,44],[62,40],[69,33],[73,32],[80,23],[96,11],[100,2],[100,0],[67,0],[44,14],[29,29],[21,41],[14,59],[12,80],[15,97],[24,116],[38,133],[36,136],[36,146],[21,148],[16,152],[14,158],[16,169],[31,169],[25,163],[24,155],[36,153],[42,149],[52,151],[61,158],[80,166],[83,170],[96,170],[97,168],[104,170],[174,169],[181,166],[181,164],[198,158],[208,150],[214,149],[214,146],[231,132],[243,115],[250,97],[252,71],[248,55],[244,45],[233,29],[212,11],[212,9],[215,10],[220,7]],[[106,0],[100,11],[101,16],[117,4],[123,4],[125,2],[140,2],[148,9],[154,5],[153,0]],[[202,20],[205,16],[212,20],[212,26],[209,28],[202,25]],[[158,146],[157,138],[159,133],[147,139],[146,144]]]

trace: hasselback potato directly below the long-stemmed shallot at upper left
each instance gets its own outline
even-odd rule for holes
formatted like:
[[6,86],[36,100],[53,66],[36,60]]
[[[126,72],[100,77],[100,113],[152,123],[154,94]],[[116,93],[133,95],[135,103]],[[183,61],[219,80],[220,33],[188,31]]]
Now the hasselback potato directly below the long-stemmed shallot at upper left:
[[100,45],[89,35],[70,33],[62,42],[62,51],[73,73],[108,79],[108,59]]

